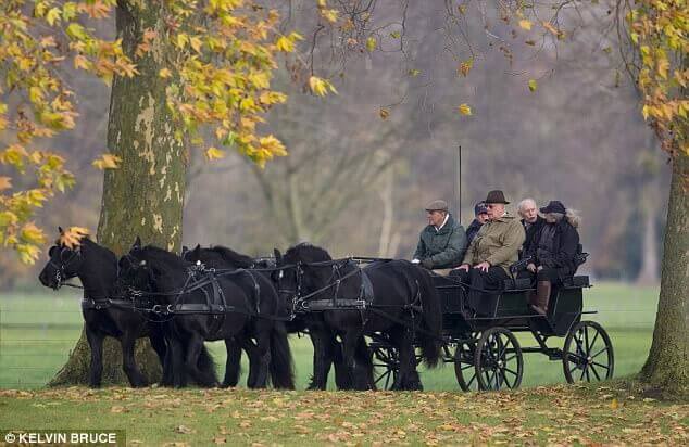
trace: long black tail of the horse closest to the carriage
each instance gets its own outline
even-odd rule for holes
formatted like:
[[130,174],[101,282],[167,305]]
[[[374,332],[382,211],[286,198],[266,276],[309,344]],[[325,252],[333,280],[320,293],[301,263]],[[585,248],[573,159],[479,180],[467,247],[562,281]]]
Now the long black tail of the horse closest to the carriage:
[[422,329],[418,332],[418,342],[424,362],[428,368],[435,368],[440,361],[442,349],[442,308],[440,306],[440,295],[433,283],[430,273],[418,268],[416,269],[418,282],[418,293],[422,306]]

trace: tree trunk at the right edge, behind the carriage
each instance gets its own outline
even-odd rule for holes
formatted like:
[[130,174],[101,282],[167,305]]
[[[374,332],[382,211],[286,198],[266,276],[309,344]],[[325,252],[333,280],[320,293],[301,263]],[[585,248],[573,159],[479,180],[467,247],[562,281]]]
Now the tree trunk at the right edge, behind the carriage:
[[663,389],[689,386],[689,156],[677,155],[667,208],[661,295],[641,379]]

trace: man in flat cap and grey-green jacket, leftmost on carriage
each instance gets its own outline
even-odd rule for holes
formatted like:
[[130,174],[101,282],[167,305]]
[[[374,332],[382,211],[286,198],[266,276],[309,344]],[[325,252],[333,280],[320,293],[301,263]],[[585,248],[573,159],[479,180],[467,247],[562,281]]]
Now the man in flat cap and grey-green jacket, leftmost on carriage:
[[448,269],[462,263],[466,250],[464,228],[452,217],[446,201],[426,206],[428,226],[421,232],[412,263],[431,269]]

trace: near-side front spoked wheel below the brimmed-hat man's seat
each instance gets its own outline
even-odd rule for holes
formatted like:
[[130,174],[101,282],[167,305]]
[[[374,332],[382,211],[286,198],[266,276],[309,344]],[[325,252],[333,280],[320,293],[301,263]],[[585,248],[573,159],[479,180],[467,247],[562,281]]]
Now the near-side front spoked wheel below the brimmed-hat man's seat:
[[517,388],[524,373],[519,342],[504,328],[487,330],[476,345],[474,368],[481,391]]

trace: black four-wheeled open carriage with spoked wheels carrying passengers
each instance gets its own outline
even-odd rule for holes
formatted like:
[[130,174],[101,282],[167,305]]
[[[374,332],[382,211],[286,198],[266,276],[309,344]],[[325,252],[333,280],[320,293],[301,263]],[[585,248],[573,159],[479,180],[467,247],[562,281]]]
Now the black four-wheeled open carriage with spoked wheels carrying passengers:
[[[588,277],[575,276],[556,290],[546,316],[528,308],[527,297],[534,292],[529,279],[505,280],[502,290],[483,293],[477,306],[468,306],[466,286],[452,277],[433,279],[442,302],[443,361],[454,363],[463,391],[518,387],[525,353],[561,361],[569,383],[613,376],[610,336],[599,323],[582,319],[596,314],[584,310],[584,290],[591,288]],[[529,337],[517,334],[530,334],[534,343],[522,346]],[[555,347],[563,337],[564,344]],[[388,387],[399,367],[396,353],[383,336],[375,336],[369,346],[383,369],[379,386]]]

